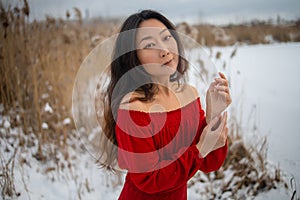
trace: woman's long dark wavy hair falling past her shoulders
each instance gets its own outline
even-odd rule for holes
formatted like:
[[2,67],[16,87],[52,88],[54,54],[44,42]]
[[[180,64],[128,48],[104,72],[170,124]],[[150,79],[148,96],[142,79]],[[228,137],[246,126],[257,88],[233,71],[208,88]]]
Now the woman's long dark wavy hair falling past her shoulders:
[[[183,74],[186,72],[188,63],[184,59],[183,45],[179,39],[179,35],[175,31],[175,26],[162,14],[153,10],[143,10],[129,16],[121,26],[120,33],[117,36],[114,52],[112,55],[112,63],[110,65],[110,82],[104,94],[104,115],[101,134],[101,155],[99,163],[102,167],[115,169],[117,164],[117,141],[115,135],[117,110],[120,106],[122,98],[133,91],[143,94],[139,97],[140,101],[149,101],[153,99],[156,87],[151,83],[150,76],[142,69],[135,70],[133,73],[127,73],[129,70],[140,66],[141,63],[137,57],[135,38],[136,29],[139,28],[141,22],[148,19],[157,19],[162,22],[169,30],[177,42],[179,61],[177,71],[171,75],[171,81],[183,80]],[[130,34],[126,34],[126,32]],[[125,33],[125,34],[123,34]],[[137,67],[136,67],[137,68]],[[122,84],[118,81],[124,74],[129,74],[128,78],[122,79]],[[146,84],[140,84],[146,83]],[[138,87],[136,87],[138,86]]]

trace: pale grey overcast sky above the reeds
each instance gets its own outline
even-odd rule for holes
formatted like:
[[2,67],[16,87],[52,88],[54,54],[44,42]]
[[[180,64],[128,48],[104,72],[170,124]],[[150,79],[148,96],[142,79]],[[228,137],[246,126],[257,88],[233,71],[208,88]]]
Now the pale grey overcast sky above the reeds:
[[[11,0],[7,0],[12,2]],[[15,0],[20,1],[20,0]],[[211,23],[237,23],[253,18],[286,19],[300,17],[300,0],[28,0],[31,19],[45,15],[65,18],[66,10],[74,15],[78,7],[83,16],[128,16],[142,9],[155,9],[171,21],[206,21]]]

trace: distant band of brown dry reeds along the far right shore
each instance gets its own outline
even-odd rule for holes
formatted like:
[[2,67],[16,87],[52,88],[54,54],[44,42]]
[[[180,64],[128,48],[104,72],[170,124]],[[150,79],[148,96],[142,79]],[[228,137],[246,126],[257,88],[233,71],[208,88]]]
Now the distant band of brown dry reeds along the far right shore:
[[198,42],[207,46],[226,46],[237,42],[246,44],[268,44],[270,42],[299,42],[300,19],[280,24],[253,21],[249,24],[214,26],[195,25]]

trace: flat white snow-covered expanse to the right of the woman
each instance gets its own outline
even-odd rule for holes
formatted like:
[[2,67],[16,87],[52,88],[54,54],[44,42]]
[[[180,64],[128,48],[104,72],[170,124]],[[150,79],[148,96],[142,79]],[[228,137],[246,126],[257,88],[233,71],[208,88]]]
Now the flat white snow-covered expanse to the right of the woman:
[[[229,58],[233,47],[214,48]],[[255,118],[259,135],[268,138],[268,159],[300,191],[300,43],[241,46],[230,65],[233,104],[242,102],[243,126]],[[222,64],[216,61],[218,68]],[[253,107],[256,107],[253,111]],[[247,137],[256,137],[253,131]],[[256,137],[259,138],[259,137]],[[299,195],[299,194],[298,194]]]

